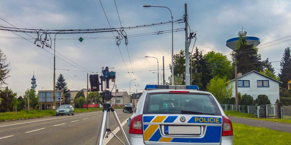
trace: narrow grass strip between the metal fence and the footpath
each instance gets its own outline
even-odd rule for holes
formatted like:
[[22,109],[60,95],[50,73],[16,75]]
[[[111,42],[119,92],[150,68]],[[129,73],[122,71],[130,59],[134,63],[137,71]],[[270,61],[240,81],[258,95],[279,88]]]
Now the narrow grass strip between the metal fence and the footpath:
[[276,118],[258,118],[257,115],[252,114],[245,114],[245,113],[236,113],[235,111],[224,111],[224,113],[228,116],[233,117],[242,117],[242,118],[249,118],[249,119],[256,119],[256,120],[264,120],[264,121],[271,121],[271,122],[280,122],[280,123],[288,123],[291,124],[291,120],[288,119],[278,119]]

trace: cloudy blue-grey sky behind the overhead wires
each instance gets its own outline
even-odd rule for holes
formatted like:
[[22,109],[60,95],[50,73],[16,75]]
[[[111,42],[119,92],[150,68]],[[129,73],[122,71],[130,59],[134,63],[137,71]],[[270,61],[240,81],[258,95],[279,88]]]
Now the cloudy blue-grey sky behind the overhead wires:
[[[226,40],[237,37],[238,31],[241,31],[242,27],[244,31],[248,32],[248,36],[259,37],[261,44],[291,35],[290,1],[115,0],[115,2],[120,21],[114,0],[101,0],[112,28],[121,27],[120,23],[123,27],[128,27],[171,21],[168,9],[144,8],[143,5],[166,6],[172,11],[174,20],[182,19],[184,3],[187,3],[189,26],[191,31],[197,31],[195,47],[203,54],[215,51],[228,55],[231,49],[226,47]],[[100,1],[0,0],[0,18],[17,28],[54,30],[110,28],[102,6]],[[1,26],[13,27],[3,20],[0,19]],[[185,28],[185,24],[174,24],[174,29],[178,28]],[[171,24],[131,29],[125,32],[127,35],[136,35],[165,30],[171,30]],[[29,37],[24,33],[18,32],[17,34],[21,37]],[[29,35],[34,38],[37,37],[36,34]],[[117,35],[116,32],[115,35]],[[112,36],[112,32],[103,32],[58,34],[56,38]],[[25,39],[7,39],[8,37],[19,36],[13,32],[0,30],[0,49],[5,52],[11,69],[9,73],[11,77],[6,80],[8,88],[17,92],[18,95],[23,95],[23,92],[31,86],[34,71],[36,90],[52,90],[54,57],[49,52],[53,53],[54,51],[44,47],[43,49],[49,51],[47,52]],[[54,35],[51,35],[51,37],[54,38]],[[180,50],[185,50],[185,32],[174,32],[173,37],[174,54],[177,54]],[[283,40],[287,39],[290,39],[290,37]],[[189,51],[192,50],[193,42],[190,44]],[[259,49],[258,53],[262,55],[262,60],[269,57],[269,61],[280,61],[284,49],[290,46],[291,41],[287,41]],[[56,52],[71,61],[56,53],[57,57],[74,66],[83,67],[79,67],[81,70],[101,72],[102,67],[109,66],[109,68],[112,68],[110,71],[116,72],[116,85],[119,91],[126,90],[129,93],[130,88],[131,92],[141,92],[145,84],[157,83],[157,74],[152,73],[157,71],[145,71],[157,70],[157,60],[144,56],[157,57],[159,69],[162,69],[162,58],[164,56],[165,79],[168,79],[168,76],[171,75],[169,69],[172,48],[171,33],[129,37],[127,47],[125,41],[121,41],[120,51],[114,39],[84,38],[82,42],[78,39],[56,40],[55,48]],[[63,74],[70,90],[86,88],[87,73],[61,59],[56,58],[56,69],[65,70],[56,70],[56,78],[60,73]],[[280,62],[274,62],[272,65],[275,68],[280,68]],[[132,72],[132,70],[134,72],[145,72],[126,73]],[[278,73],[279,70],[276,70],[276,72]],[[162,70],[159,70],[159,73],[162,74]],[[98,74],[101,75],[101,73]],[[136,80],[131,81],[132,79]],[[161,78],[159,77],[159,79]],[[130,81],[131,86],[129,86]],[[112,88],[113,82],[110,84]]]

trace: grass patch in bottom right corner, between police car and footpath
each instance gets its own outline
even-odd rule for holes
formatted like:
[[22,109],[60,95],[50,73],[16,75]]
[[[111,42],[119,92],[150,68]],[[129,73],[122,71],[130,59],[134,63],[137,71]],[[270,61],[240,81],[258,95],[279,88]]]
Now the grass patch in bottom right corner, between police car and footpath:
[[290,144],[291,133],[239,123],[232,124],[234,144]]

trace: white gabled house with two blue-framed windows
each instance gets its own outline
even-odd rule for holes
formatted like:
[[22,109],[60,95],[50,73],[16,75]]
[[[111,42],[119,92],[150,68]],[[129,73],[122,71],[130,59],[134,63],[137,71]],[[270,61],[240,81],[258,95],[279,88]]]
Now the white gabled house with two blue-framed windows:
[[[229,81],[235,86],[235,79]],[[276,79],[263,75],[255,70],[237,77],[237,92],[242,95],[247,94],[254,99],[258,95],[267,95],[272,104],[279,99],[279,83]],[[233,87],[233,97],[235,97],[235,87]]]

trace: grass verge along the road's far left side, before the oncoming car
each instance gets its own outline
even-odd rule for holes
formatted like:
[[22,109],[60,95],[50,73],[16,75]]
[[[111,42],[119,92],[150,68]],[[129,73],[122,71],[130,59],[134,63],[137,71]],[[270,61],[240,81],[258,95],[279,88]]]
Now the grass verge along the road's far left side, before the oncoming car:
[[49,115],[56,115],[56,112],[54,112],[53,110],[33,110],[33,111],[24,110],[18,112],[5,112],[0,113],[0,120],[41,117]]

